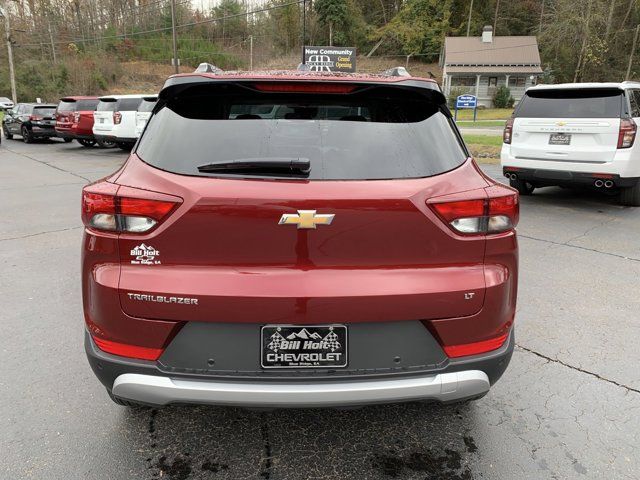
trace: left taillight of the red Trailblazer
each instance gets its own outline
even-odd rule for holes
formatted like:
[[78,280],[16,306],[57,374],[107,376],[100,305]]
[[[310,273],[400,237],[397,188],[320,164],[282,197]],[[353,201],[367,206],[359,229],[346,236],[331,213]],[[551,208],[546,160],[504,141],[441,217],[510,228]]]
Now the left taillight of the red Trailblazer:
[[94,230],[146,233],[180,203],[173,195],[99,182],[82,189],[82,221]]

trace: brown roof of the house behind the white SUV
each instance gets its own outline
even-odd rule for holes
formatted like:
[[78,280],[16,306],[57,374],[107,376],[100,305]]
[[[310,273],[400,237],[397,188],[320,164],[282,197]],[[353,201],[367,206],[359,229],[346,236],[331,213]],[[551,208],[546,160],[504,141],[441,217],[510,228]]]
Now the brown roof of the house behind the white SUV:
[[[501,67],[500,71],[506,67],[537,66],[541,71],[538,41],[533,36],[494,36],[487,43],[481,37],[447,37],[444,65],[449,72],[454,71],[452,67],[462,66]],[[526,71],[529,72],[532,70]]]

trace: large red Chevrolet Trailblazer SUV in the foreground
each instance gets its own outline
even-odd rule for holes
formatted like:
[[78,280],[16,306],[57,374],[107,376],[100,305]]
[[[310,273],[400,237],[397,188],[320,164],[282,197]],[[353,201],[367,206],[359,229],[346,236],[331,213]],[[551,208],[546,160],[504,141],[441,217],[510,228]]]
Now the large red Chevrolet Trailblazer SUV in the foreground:
[[85,347],[121,405],[453,402],[511,358],[518,194],[431,80],[173,76],[82,218]]

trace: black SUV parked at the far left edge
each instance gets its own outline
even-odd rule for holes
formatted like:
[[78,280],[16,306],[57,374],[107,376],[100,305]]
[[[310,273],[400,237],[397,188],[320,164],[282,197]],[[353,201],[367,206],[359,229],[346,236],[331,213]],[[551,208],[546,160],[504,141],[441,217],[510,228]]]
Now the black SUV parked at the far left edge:
[[56,105],[47,103],[18,103],[4,114],[2,128],[8,139],[21,135],[25,143],[38,138],[56,136]]

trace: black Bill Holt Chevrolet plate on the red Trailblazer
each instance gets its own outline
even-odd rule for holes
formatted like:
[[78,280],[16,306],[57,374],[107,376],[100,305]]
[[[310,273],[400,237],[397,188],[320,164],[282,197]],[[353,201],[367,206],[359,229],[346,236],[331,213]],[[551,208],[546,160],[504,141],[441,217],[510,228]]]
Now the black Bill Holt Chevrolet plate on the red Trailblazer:
[[347,366],[345,325],[265,325],[262,368],[341,368]]

